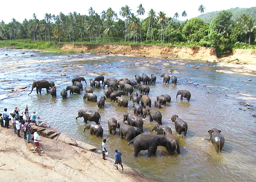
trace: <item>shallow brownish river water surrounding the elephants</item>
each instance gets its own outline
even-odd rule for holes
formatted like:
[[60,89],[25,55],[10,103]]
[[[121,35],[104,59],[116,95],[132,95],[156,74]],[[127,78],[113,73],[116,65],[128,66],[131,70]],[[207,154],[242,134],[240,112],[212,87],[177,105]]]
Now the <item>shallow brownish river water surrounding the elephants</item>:
[[[8,54],[6,56],[5,54]],[[33,56],[31,56],[33,55]],[[78,58],[80,56],[80,58]],[[102,138],[83,132],[85,123],[82,118],[75,119],[79,109],[98,111],[101,115],[101,125],[104,129],[103,137],[107,139],[108,157],[114,158],[114,148],[122,153],[123,163],[142,174],[158,181],[255,181],[255,122],[252,114],[256,112],[253,100],[239,100],[238,93],[256,96],[256,78],[253,76],[228,75],[215,72],[220,68],[214,63],[204,61],[179,61],[151,58],[109,57],[99,55],[61,55],[58,53],[39,53],[0,49],[0,98],[1,111],[4,107],[11,111],[16,105],[24,110],[28,105],[30,113],[36,111],[51,127],[72,137],[88,142],[101,149]],[[199,67],[199,69],[196,69]],[[177,86],[163,84],[162,73],[172,72],[178,78]],[[60,74],[66,73],[66,76]],[[133,156],[133,146],[119,135],[109,135],[107,119],[123,120],[124,112],[133,112],[132,103],[128,108],[117,107],[117,104],[105,102],[104,109],[98,109],[96,103],[83,100],[80,95],[69,95],[66,100],[60,96],[60,91],[67,85],[72,85],[74,76],[84,76],[89,86],[89,79],[97,74],[105,78],[117,79],[127,77],[134,79],[134,75],[146,73],[157,76],[156,85],[150,86],[152,106],[157,95],[171,95],[171,103],[159,111],[163,115],[163,124],[171,127],[172,132],[180,141],[181,153],[177,156],[169,155],[163,147],[158,147],[156,156],[147,157],[147,151],[142,151],[138,157]],[[28,95],[34,80],[47,79],[57,85],[58,98],[52,98],[42,89],[37,95],[36,90]],[[244,82],[248,79],[252,81]],[[85,86],[85,82],[82,82]],[[9,95],[8,87],[28,86],[29,90]],[[191,100],[176,99],[177,90],[188,90]],[[98,98],[103,89],[94,89]],[[126,96],[129,98],[129,96]],[[248,109],[240,102],[250,102]],[[253,110],[254,109],[254,110]],[[244,111],[245,110],[245,111]],[[177,114],[188,123],[186,137],[175,132],[171,116]],[[149,116],[144,121],[144,134],[149,132],[155,122],[149,122]],[[204,140],[208,138],[208,130],[217,128],[225,137],[225,145],[220,154],[215,152],[212,144]]]

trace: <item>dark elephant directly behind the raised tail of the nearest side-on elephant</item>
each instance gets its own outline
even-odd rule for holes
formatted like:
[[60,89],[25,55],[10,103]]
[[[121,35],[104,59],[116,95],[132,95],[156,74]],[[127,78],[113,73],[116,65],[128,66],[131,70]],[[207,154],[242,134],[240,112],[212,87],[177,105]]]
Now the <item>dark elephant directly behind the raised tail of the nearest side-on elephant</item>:
[[119,128],[119,134],[122,139],[125,137],[125,140],[130,142],[132,139],[136,137],[136,131],[134,127],[124,122],[118,122],[116,127]]

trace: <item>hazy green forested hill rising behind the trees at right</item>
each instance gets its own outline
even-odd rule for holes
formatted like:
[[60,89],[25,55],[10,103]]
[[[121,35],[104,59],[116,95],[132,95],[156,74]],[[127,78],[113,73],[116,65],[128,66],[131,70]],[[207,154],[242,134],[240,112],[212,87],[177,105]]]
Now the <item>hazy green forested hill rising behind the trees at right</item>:
[[[254,20],[256,20],[256,7],[251,7],[251,8],[231,8],[228,9],[228,11],[231,11],[233,16],[232,16],[232,20],[235,20],[241,15],[246,13],[248,16],[250,16],[251,18],[253,18]],[[210,23],[212,21],[213,18],[215,18],[220,11],[212,11],[209,13],[203,13],[202,14],[202,20],[205,22]],[[198,18],[201,18],[201,15],[198,16]]]

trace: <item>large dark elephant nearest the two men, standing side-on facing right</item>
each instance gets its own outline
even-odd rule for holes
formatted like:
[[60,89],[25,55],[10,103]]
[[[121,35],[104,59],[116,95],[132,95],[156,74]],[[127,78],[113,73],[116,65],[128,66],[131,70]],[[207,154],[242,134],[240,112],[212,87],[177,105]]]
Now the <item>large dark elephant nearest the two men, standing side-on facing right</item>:
[[138,156],[141,150],[148,150],[148,157],[155,155],[159,145],[164,146],[169,153],[173,154],[164,135],[138,135],[128,145],[130,144],[134,146],[134,156]]

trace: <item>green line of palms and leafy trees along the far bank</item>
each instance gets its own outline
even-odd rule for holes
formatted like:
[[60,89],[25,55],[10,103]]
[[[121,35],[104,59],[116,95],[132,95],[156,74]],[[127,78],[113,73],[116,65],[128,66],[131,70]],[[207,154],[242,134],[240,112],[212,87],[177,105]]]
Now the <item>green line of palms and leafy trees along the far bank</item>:
[[[46,13],[44,19],[24,19],[22,23],[14,18],[8,24],[0,22],[0,40],[32,39],[37,41],[58,42],[133,42],[143,44],[163,45],[198,45],[215,47],[218,52],[231,50],[234,46],[254,45],[256,26],[252,17],[241,14],[232,20],[232,12],[220,11],[210,23],[202,18],[185,20],[187,12],[181,16],[176,12],[173,17],[167,17],[163,11],[156,13],[150,9],[145,19],[141,15],[145,10],[140,4],[136,13],[128,5],[118,12],[124,20],[118,18],[111,8],[96,13],[92,7],[89,15],[73,12],[68,15],[60,12],[58,15]],[[198,11],[204,13],[205,6],[200,5]]]

